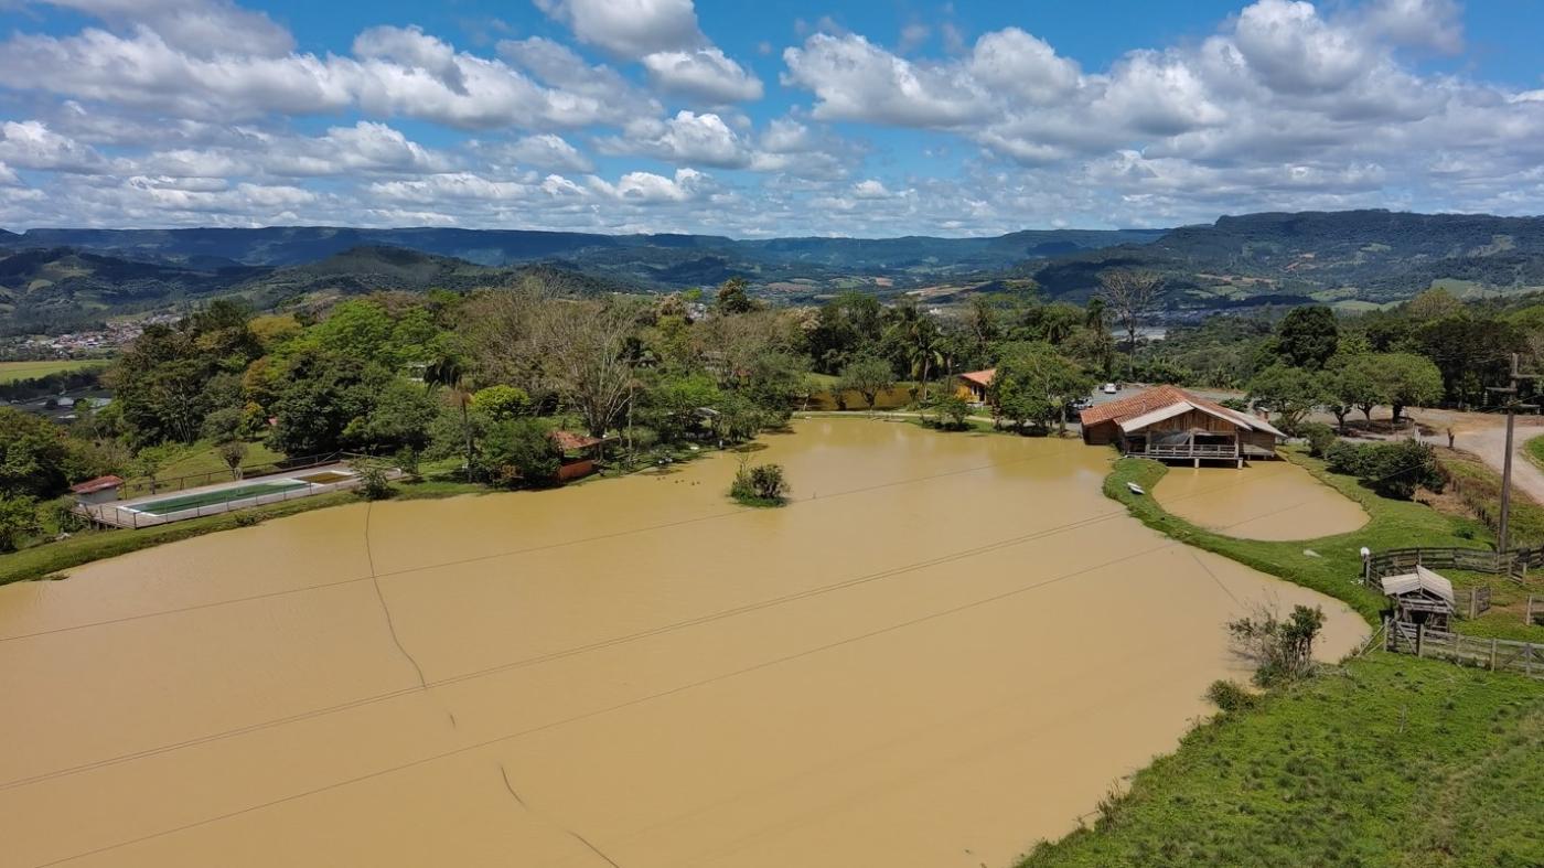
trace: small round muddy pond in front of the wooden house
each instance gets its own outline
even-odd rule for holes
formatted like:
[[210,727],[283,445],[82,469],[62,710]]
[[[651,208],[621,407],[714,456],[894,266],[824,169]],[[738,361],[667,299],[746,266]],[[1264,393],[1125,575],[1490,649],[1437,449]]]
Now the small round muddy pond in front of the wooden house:
[[1153,497],[1183,519],[1241,539],[1315,539],[1366,524],[1360,504],[1286,460],[1169,468]]

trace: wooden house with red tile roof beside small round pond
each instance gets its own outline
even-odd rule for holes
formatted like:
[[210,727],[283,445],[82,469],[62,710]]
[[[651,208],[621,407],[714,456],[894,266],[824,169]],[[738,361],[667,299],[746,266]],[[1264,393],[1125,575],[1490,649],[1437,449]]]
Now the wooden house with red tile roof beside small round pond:
[[1227,409],[1178,386],[1158,386],[1082,411],[1082,440],[1158,460],[1274,459],[1286,439],[1269,422]]

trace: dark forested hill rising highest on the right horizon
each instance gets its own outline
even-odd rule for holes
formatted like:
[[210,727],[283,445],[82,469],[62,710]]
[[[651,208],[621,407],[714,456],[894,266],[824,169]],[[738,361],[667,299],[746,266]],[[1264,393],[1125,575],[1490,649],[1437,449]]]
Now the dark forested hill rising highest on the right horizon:
[[1079,252],[1025,269],[1048,293],[1081,297],[1112,266],[1166,276],[1169,307],[1385,303],[1445,284],[1459,295],[1544,289],[1544,218],[1385,210],[1224,216],[1143,246]]

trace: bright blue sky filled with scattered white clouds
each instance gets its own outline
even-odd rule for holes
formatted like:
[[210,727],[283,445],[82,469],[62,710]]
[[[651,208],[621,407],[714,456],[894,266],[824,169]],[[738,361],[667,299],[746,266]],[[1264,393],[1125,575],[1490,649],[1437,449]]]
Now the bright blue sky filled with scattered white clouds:
[[1544,5],[0,0],[0,225],[1539,213]]

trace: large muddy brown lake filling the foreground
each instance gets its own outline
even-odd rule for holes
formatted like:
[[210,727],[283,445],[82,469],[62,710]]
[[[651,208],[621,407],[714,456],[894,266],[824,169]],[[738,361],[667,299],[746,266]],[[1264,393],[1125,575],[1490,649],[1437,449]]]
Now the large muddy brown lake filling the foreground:
[[1366,635],[1126,516],[1107,449],[763,443],[781,510],[713,456],[0,588],[0,863],[1008,865],[1248,675],[1255,601],[1322,605],[1325,658]]

